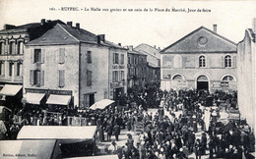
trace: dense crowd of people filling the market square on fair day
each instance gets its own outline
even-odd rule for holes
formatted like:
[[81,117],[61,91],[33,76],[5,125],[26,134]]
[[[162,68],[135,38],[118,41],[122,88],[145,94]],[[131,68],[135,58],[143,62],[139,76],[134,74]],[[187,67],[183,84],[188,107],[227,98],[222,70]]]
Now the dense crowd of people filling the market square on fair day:
[[[111,141],[106,151],[117,154],[120,159],[188,158],[191,153],[195,153],[196,158],[202,155],[242,158],[254,150],[254,134],[246,122],[218,120],[222,109],[237,109],[236,92],[161,91],[158,84],[151,84],[124,94],[118,103],[103,110],[60,107],[62,113],[59,114],[39,107],[25,107],[15,113],[21,118],[20,124],[16,125],[17,119],[14,119],[7,125],[4,139],[15,139],[25,125],[67,126],[72,117],[79,118],[80,122],[83,119],[84,126],[96,126],[99,140]],[[213,105],[216,109],[206,109]],[[149,108],[160,111],[148,113]],[[143,124],[143,130],[137,132],[139,123]],[[128,133],[126,143],[120,146],[116,141],[123,130],[135,133]]]

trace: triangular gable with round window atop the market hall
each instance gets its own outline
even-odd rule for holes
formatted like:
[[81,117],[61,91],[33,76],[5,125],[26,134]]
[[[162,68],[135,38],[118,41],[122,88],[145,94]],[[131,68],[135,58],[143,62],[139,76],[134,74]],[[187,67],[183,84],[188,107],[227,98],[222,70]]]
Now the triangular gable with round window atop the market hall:
[[160,53],[194,52],[236,52],[236,43],[211,29],[199,27],[160,51]]

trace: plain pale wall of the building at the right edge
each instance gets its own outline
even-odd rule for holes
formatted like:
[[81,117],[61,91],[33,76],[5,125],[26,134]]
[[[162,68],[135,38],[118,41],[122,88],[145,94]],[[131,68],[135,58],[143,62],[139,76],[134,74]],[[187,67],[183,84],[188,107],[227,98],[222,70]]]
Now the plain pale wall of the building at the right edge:
[[256,48],[256,19],[253,28],[247,28],[242,41],[237,46],[237,76],[238,76],[238,108],[241,118],[255,132],[255,48]]

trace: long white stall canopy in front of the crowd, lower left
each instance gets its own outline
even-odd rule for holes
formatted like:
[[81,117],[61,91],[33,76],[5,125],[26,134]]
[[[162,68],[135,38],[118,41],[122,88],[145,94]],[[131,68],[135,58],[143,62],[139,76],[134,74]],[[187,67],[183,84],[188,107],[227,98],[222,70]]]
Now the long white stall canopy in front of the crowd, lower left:
[[24,126],[17,139],[92,139],[96,126]]

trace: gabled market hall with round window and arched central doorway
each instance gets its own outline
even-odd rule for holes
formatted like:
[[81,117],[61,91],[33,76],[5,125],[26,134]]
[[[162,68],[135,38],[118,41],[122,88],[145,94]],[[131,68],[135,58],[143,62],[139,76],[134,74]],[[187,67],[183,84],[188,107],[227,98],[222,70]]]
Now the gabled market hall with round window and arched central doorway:
[[160,51],[161,89],[236,90],[236,44],[206,27]]

